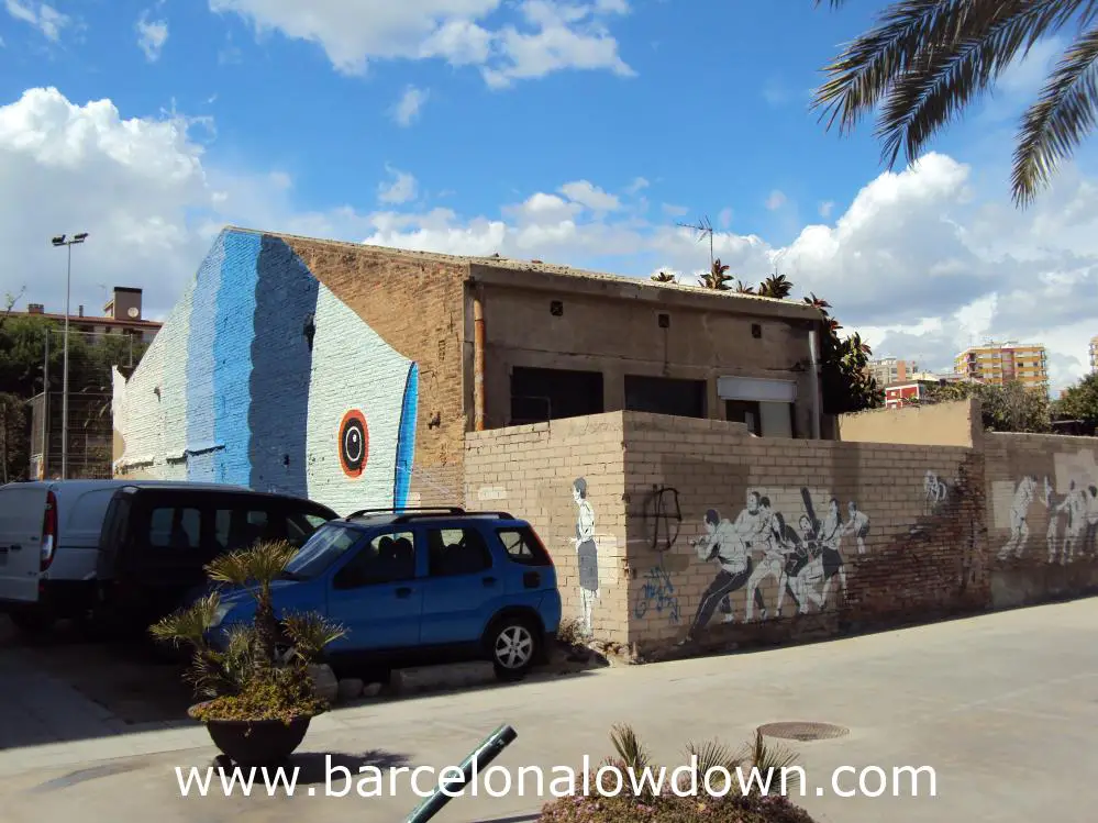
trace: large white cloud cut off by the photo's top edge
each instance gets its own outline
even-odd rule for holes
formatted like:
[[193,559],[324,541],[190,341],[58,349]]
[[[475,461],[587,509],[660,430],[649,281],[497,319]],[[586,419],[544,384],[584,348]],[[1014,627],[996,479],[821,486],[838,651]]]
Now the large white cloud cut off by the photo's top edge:
[[361,74],[370,60],[441,58],[478,66],[485,81],[515,80],[563,69],[610,70],[630,77],[607,21],[629,12],[623,0],[521,0],[521,27],[488,29],[502,0],[209,0],[214,12],[234,13],[258,32],[315,43],[336,70]]

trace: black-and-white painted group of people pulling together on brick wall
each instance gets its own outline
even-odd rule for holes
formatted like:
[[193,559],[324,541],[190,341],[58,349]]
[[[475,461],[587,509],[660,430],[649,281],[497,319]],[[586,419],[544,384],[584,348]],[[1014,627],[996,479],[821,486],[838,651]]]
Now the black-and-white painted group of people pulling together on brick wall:
[[[718,571],[680,645],[709,625],[718,610],[723,612],[723,622],[733,622],[730,598],[740,589],[745,593],[745,623],[783,616],[787,600],[796,613],[808,614],[813,605],[823,610],[834,602],[832,594],[845,597],[843,540],[852,536],[857,552],[865,554],[869,516],[855,501],[842,507],[830,498],[821,519],[807,488],[800,489],[799,497],[800,511],[792,513],[796,526],[757,489],[747,491],[746,504],[735,520],[722,518],[717,509],[706,513],[706,531],[690,545],[699,559],[714,563]],[[773,609],[764,589],[773,592]]]

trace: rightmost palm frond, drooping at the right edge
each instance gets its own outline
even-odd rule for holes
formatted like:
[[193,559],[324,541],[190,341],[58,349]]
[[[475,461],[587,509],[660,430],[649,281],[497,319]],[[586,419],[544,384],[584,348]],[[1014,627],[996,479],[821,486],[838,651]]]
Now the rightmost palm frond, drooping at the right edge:
[[1098,27],[1065,52],[1039,100],[1022,119],[1011,187],[1028,204],[1046,186],[1056,165],[1095,129],[1098,119]]

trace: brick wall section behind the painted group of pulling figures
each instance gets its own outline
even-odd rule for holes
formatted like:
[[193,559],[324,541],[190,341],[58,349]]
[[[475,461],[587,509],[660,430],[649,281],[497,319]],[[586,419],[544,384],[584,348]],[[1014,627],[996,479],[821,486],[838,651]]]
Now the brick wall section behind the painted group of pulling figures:
[[[724,623],[718,608],[695,633],[691,648],[780,642],[844,625],[979,608],[986,600],[983,469],[971,449],[755,438],[720,421],[635,413],[624,415],[624,440],[630,640],[642,652],[666,652],[689,633],[702,594],[720,571],[690,541],[706,534],[707,511],[734,522],[753,492],[798,532],[801,518],[813,513],[823,531],[832,530],[834,499],[838,511],[830,514],[838,514],[838,524],[847,525],[853,516],[856,526],[861,512],[868,518],[867,533],[861,545],[853,532],[838,543],[843,571],[831,580],[822,608],[812,597],[824,583],[811,581],[811,569],[798,578],[808,604],[803,614],[789,592],[796,582],[780,592],[779,613],[778,580],[764,578],[759,604],[748,586],[736,589],[730,596],[732,622]],[[674,511],[675,492],[681,523],[668,541],[657,534],[662,521],[655,510],[663,498],[664,511]],[[758,569],[757,544],[752,554]],[[752,622],[745,623],[748,610]]]

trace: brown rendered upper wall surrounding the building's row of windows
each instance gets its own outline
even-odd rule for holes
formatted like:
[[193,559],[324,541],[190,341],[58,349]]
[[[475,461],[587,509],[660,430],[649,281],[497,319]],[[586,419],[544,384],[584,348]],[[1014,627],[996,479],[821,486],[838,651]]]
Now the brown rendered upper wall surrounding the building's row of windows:
[[[717,420],[725,416],[717,392],[719,377],[795,380],[797,434],[811,435],[803,307],[790,309],[757,299],[737,303],[711,294],[696,301],[688,298],[698,296],[684,296],[681,290],[622,294],[625,287],[614,286],[594,293],[579,288],[565,291],[559,285],[556,292],[512,285],[484,287],[488,427],[510,423],[510,374],[522,366],[601,371],[608,412],[624,409],[625,375],[706,380],[707,413]],[[563,302],[559,316],[550,313],[552,300]],[[786,315],[774,313],[778,310]],[[668,315],[667,329],[658,326],[659,314]],[[761,337],[752,335],[754,324],[761,327]]]

